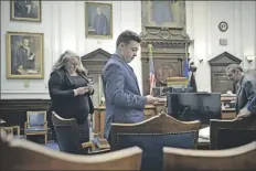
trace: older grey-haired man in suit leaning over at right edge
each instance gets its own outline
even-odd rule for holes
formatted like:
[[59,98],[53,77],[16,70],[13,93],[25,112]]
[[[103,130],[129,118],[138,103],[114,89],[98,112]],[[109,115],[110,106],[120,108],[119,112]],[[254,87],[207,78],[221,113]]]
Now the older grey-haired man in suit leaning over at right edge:
[[231,64],[226,67],[227,77],[236,84],[236,114],[237,118],[250,116],[253,100],[256,95],[256,78],[253,75],[245,74],[237,64]]

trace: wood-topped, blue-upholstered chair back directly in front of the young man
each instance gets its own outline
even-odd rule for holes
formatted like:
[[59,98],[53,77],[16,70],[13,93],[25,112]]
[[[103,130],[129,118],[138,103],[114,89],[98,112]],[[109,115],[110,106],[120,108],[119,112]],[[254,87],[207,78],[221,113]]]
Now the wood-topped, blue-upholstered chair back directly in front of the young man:
[[111,124],[110,148],[138,146],[143,150],[141,170],[162,170],[162,148],[196,148],[200,121],[179,121],[166,113],[138,124]]

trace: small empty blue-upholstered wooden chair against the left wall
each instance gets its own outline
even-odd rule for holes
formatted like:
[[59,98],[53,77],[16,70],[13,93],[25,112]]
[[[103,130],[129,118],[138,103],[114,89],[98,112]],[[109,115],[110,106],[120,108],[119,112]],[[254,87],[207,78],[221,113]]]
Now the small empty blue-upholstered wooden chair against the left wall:
[[44,143],[47,143],[47,121],[46,111],[26,111],[26,122],[24,124],[24,135],[43,135]]

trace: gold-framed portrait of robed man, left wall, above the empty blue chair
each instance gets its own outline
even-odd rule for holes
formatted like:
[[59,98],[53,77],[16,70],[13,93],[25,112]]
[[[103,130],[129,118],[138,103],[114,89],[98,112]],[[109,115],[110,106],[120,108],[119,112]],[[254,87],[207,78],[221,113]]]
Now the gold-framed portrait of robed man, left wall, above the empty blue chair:
[[7,78],[44,78],[44,34],[7,32]]

